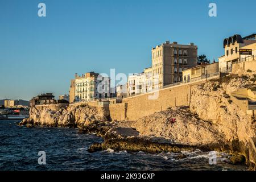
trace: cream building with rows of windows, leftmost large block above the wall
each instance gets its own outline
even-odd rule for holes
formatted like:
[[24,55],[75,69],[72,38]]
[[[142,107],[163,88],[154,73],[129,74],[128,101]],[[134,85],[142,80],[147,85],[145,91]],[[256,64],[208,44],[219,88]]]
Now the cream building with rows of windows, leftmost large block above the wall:
[[110,78],[102,77],[99,73],[94,72],[85,73],[82,76],[76,74],[75,79],[71,80],[69,94],[71,102],[88,102],[112,97]]

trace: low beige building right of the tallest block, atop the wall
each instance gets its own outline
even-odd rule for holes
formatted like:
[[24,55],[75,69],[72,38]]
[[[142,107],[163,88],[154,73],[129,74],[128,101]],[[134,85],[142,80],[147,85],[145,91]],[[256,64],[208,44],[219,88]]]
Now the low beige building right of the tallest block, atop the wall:
[[182,72],[183,82],[187,83],[210,76],[215,76],[219,74],[218,71],[218,63],[197,65],[196,67],[187,69]]

